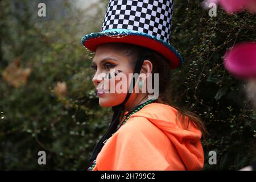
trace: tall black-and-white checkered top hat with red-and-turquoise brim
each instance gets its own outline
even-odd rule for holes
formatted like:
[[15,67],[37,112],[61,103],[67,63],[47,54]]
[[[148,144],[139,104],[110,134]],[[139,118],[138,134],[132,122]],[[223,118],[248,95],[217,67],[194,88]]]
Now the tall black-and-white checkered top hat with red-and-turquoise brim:
[[130,43],[150,48],[170,61],[174,69],[183,63],[171,46],[173,0],[110,0],[101,32],[85,35],[81,42],[95,52],[104,43]]

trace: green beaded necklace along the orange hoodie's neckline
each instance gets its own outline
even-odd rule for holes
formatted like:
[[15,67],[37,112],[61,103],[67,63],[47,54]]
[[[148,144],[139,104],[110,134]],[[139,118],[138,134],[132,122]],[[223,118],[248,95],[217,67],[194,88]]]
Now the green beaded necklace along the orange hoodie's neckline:
[[[120,122],[119,125],[117,126],[117,130],[118,130],[122,125],[125,125],[126,121],[130,118],[130,116],[131,116],[132,114],[136,113],[137,111],[141,110],[144,106],[146,106],[146,105],[148,105],[148,104],[150,104],[150,103],[152,103],[152,102],[154,102],[154,101],[156,101],[156,100],[152,100],[152,99],[146,100],[146,101],[142,102],[141,104],[135,106],[133,109],[131,109],[131,110],[129,111],[129,113],[123,115],[123,118],[121,119],[121,122]],[[112,134],[112,135],[113,135],[113,134]],[[87,171],[92,171],[92,169],[93,169],[95,166],[96,166],[96,159],[93,160],[92,166],[89,167],[89,168],[87,169]]]

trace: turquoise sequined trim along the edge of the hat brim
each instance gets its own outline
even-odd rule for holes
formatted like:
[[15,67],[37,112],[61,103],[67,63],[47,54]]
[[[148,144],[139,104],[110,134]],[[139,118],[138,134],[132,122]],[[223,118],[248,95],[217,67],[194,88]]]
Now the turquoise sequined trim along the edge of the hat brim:
[[[118,36],[119,35],[119,36]],[[142,37],[146,37],[149,38],[151,40],[154,40],[156,42],[159,42],[160,44],[162,44],[163,46],[167,47],[168,49],[170,49],[170,51],[172,53],[175,54],[175,56],[177,57],[177,59],[179,59],[179,67],[184,64],[183,58],[181,57],[180,53],[171,46],[170,43],[164,42],[162,39],[157,38],[154,35],[148,35],[144,32],[139,32],[139,31],[134,31],[134,30],[127,30],[127,29],[119,29],[119,28],[115,28],[115,29],[110,29],[110,30],[104,30],[101,32],[95,32],[95,33],[91,33],[91,34],[87,34],[85,35],[82,39],[81,39],[81,43],[84,45],[84,47],[88,48],[90,51],[95,52],[95,48],[96,47],[89,47],[89,46],[85,46],[85,42],[87,42],[88,40],[91,40],[94,38],[94,42],[97,41],[97,46],[101,44],[100,40],[98,38],[101,38],[102,36],[113,36],[111,38],[113,39],[118,39],[118,38],[122,38],[124,36],[129,36],[129,35],[137,35],[137,36],[142,36]],[[119,41],[118,41],[119,42]],[[125,42],[124,42],[125,43]],[[150,46],[145,45],[145,47],[150,48]],[[163,55],[163,53],[161,53]],[[164,55],[163,55],[164,56]],[[166,56],[165,56],[166,57]],[[167,60],[168,57],[166,57]],[[172,62],[172,60],[171,60]],[[176,67],[175,67],[176,68]]]

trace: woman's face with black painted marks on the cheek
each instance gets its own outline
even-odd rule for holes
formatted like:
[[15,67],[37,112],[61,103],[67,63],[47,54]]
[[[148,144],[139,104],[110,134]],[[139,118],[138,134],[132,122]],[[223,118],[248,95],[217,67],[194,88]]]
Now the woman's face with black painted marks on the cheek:
[[110,107],[121,104],[125,100],[129,88],[128,79],[125,93],[117,93],[116,90],[114,93],[110,93],[110,88],[113,89],[113,86],[116,88],[118,82],[121,81],[118,74],[123,74],[122,76],[128,78],[128,74],[133,73],[130,57],[123,55],[118,48],[112,45],[102,44],[97,47],[92,64],[95,71],[92,81],[96,86],[100,106]]

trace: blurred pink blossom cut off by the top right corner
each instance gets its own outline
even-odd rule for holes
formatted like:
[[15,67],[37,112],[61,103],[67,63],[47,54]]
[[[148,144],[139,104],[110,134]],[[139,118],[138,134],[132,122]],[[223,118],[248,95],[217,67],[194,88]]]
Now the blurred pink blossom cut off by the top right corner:
[[247,9],[250,13],[256,13],[256,0],[205,0],[205,3],[220,3],[228,13],[234,13]]

